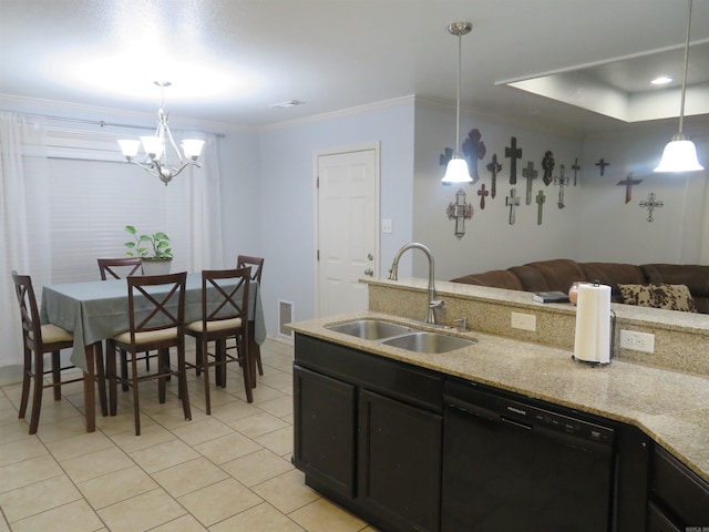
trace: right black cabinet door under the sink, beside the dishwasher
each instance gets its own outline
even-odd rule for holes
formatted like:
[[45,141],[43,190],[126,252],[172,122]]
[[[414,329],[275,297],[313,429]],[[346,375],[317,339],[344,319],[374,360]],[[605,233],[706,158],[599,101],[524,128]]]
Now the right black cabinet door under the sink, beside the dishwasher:
[[391,530],[440,530],[443,417],[360,390],[359,429],[359,502]]

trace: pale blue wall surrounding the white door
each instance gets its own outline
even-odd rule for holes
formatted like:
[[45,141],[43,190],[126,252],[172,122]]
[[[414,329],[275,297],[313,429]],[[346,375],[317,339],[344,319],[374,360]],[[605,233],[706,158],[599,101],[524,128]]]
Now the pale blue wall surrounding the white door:
[[413,100],[405,100],[259,134],[259,225],[266,260],[261,298],[269,332],[277,330],[278,299],[294,301],[296,320],[315,316],[317,152],[379,142],[381,214],[394,227],[381,235],[382,272],[411,239],[413,114]]

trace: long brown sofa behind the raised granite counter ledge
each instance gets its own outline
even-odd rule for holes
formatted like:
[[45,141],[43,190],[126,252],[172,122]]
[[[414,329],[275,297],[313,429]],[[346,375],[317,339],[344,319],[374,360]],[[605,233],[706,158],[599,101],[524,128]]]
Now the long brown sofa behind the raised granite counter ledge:
[[568,291],[575,280],[594,282],[612,288],[613,301],[624,303],[618,285],[669,284],[689,288],[697,311],[709,314],[709,266],[689,264],[577,263],[568,258],[527,263],[451,279],[453,283],[492,286],[522,291]]

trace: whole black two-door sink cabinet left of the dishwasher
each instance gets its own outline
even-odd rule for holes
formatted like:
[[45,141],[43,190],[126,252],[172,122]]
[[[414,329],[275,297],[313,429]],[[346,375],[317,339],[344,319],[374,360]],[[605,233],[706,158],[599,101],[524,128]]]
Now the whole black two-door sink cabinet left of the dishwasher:
[[443,377],[296,335],[294,464],[387,531],[440,530]]

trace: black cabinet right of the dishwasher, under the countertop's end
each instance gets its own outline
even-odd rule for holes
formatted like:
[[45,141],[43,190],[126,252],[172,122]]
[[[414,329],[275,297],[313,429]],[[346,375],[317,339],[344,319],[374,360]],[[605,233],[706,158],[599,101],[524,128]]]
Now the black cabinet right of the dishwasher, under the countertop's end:
[[709,483],[659,446],[650,462],[647,530],[709,530]]

